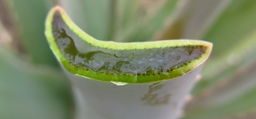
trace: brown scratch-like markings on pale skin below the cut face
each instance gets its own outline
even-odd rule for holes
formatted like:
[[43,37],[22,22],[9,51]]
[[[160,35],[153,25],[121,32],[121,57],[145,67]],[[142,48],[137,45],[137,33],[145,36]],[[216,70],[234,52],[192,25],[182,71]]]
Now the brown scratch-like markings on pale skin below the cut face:
[[145,104],[148,105],[160,105],[160,104],[167,104],[171,94],[166,94],[165,96],[159,97],[155,91],[161,89],[163,84],[159,84],[160,82],[154,83],[153,85],[148,87],[148,92],[144,94],[141,98],[142,101],[145,101]]

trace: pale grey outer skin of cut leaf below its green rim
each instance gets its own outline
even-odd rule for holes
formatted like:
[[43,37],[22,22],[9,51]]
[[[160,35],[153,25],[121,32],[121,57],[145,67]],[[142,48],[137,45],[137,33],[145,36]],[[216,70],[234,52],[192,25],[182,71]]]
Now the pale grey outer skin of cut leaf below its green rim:
[[76,119],[176,119],[201,68],[171,80],[122,86],[66,72],[74,89]]

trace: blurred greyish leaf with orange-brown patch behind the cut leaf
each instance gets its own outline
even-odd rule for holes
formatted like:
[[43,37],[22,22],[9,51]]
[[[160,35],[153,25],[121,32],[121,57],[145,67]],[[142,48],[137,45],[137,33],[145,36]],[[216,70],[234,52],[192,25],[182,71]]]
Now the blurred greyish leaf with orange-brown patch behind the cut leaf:
[[[156,37],[159,39],[201,39],[231,0],[181,0],[166,26]],[[200,4],[200,5],[199,5]]]

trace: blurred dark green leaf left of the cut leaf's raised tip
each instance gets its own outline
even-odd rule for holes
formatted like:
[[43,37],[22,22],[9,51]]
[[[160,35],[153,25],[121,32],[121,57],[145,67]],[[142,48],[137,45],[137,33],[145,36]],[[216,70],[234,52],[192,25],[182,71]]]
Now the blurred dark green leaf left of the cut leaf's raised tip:
[[22,44],[24,44],[32,62],[58,66],[54,55],[48,49],[43,34],[43,24],[49,7],[48,4],[42,0],[11,0],[8,2],[13,3],[14,12],[19,23],[19,31],[22,33]]

